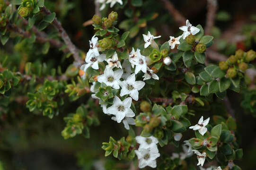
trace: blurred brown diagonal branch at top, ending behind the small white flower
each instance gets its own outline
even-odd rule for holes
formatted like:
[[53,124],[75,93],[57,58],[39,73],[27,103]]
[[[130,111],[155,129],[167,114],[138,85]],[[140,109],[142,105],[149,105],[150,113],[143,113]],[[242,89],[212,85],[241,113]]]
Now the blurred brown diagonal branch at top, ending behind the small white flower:
[[184,26],[186,23],[185,17],[181,15],[181,13],[173,6],[173,4],[169,0],[160,0],[164,8],[166,8],[169,13],[174,17],[175,21],[178,23],[179,26]]

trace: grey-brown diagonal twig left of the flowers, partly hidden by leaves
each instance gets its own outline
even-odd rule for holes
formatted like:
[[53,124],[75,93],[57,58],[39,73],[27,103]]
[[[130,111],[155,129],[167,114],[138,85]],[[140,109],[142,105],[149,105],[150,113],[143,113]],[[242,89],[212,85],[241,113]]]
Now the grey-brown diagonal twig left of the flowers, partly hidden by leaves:
[[[51,15],[52,13],[50,12],[49,9],[43,7],[41,8],[41,10],[46,14],[46,15]],[[76,46],[73,44],[73,42],[71,42],[71,39],[69,37],[69,35],[66,33],[66,31],[64,30],[64,28],[62,27],[62,24],[56,19],[56,17],[54,18],[53,22],[52,22],[53,26],[55,26],[55,28],[58,30],[58,32],[61,34],[61,37],[63,39],[63,41],[65,42],[65,44],[68,46],[68,49],[71,51],[71,53],[73,54],[73,58],[75,59],[74,61],[74,66],[79,68],[79,66],[83,63],[82,59],[79,56],[79,51],[76,48]]]

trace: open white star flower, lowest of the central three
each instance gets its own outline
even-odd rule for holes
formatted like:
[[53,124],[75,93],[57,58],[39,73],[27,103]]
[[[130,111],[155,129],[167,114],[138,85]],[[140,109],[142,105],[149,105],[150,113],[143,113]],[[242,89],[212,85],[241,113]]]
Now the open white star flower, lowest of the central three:
[[113,105],[107,108],[109,114],[115,115],[117,123],[120,123],[124,117],[132,118],[135,116],[132,109],[132,98],[128,97],[122,102],[117,96],[114,98]]

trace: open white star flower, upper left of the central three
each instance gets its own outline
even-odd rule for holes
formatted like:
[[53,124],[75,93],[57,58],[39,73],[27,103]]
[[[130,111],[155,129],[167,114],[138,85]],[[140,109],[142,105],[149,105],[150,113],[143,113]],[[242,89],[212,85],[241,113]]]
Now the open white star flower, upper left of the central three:
[[123,74],[122,69],[113,71],[111,68],[105,68],[104,74],[97,77],[98,82],[105,83],[113,87],[114,89],[119,89],[119,79]]

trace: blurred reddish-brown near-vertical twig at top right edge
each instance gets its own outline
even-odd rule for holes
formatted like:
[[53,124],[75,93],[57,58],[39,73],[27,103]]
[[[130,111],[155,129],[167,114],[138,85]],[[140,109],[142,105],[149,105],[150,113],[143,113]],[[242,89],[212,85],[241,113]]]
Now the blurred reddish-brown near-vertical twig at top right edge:
[[212,27],[215,23],[215,17],[216,17],[216,11],[218,8],[218,2],[217,0],[207,0],[207,15],[206,15],[206,26],[204,29],[204,33],[206,35],[211,34]]

